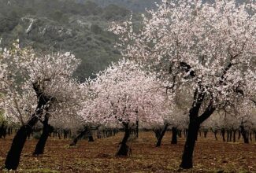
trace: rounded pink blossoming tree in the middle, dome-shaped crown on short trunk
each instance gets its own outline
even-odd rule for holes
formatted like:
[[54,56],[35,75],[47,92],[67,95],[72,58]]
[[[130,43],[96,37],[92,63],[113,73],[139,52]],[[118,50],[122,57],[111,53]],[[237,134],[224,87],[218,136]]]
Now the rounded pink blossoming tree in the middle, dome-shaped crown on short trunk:
[[119,61],[97,74],[91,83],[91,100],[84,102],[80,115],[95,123],[117,123],[124,127],[124,138],[117,156],[128,155],[130,127],[141,122],[163,121],[169,99],[153,73],[144,72],[134,61]]

